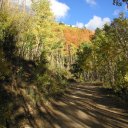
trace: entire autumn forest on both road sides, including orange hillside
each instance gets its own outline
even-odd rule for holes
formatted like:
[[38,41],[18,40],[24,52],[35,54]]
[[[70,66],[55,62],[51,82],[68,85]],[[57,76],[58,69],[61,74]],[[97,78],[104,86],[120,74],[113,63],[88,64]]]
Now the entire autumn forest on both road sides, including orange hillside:
[[41,127],[38,109],[63,95],[70,82],[98,82],[128,97],[123,14],[94,33],[57,23],[48,0],[29,10],[8,0],[0,4],[1,128]]

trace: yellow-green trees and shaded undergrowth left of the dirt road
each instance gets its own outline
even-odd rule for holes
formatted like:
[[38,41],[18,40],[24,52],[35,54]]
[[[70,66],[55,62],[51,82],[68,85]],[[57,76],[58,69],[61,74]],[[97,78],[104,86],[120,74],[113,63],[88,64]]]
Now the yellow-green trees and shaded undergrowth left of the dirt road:
[[71,76],[63,32],[49,1],[33,1],[25,8],[1,1],[0,127],[21,127],[26,120],[34,127],[30,108],[34,111],[44,99],[61,95]]

